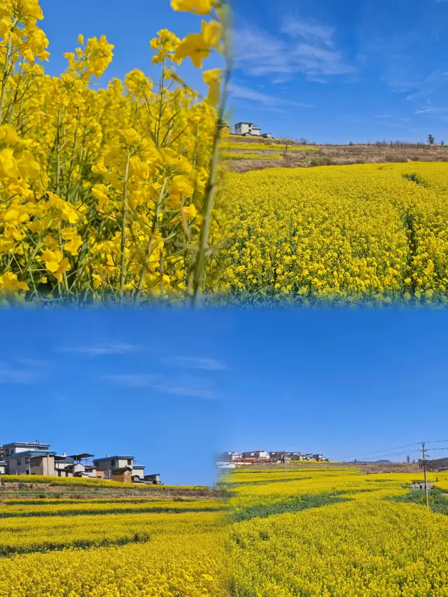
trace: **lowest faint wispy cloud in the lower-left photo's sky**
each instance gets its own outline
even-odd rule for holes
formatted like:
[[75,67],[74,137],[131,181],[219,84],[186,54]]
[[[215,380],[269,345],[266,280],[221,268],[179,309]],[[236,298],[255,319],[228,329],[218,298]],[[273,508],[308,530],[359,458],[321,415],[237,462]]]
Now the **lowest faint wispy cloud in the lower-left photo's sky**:
[[163,394],[184,396],[185,398],[203,398],[205,400],[216,400],[218,395],[214,388],[203,379],[197,377],[180,377],[173,379],[158,375],[141,373],[122,373],[104,375],[99,379],[122,388],[151,388],[153,391]]

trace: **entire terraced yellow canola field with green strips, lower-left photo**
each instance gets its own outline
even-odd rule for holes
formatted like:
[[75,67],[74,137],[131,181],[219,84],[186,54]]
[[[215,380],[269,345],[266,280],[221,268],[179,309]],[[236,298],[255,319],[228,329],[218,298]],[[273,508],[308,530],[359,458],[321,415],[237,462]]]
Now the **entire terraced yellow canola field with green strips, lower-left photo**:
[[0,597],[225,595],[217,500],[54,502],[1,507]]

